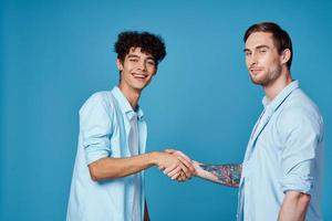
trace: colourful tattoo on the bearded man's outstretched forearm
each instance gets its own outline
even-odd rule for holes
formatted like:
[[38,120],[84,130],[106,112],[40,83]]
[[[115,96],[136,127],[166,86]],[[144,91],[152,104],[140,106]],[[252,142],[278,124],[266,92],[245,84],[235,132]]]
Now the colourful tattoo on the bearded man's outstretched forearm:
[[219,183],[228,187],[239,187],[242,165],[200,165],[199,167],[215,175]]

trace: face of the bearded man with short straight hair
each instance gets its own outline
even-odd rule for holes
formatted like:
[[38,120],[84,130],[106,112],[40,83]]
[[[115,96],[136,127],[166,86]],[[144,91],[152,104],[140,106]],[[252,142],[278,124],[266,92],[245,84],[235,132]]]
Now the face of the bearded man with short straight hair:
[[272,34],[255,32],[246,41],[246,64],[252,83],[267,86],[282,73],[286,65],[283,53],[279,54]]

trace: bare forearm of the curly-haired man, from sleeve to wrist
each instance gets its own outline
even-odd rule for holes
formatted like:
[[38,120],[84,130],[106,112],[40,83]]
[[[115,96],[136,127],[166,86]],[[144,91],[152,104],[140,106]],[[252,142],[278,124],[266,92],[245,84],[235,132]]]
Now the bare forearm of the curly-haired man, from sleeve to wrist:
[[89,165],[91,178],[95,181],[126,177],[156,165],[157,152],[128,158],[102,158]]

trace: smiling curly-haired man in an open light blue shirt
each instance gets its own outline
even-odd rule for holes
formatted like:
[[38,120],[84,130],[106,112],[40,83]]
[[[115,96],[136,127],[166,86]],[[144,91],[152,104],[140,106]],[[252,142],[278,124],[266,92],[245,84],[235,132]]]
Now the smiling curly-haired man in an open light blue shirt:
[[165,57],[160,36],[122,32],[114,45],[120,83],[93,94],[80,109],[80,136],[66,220],[149,220],[143,170],[175,169],[187,179],[194,167],[180,156],[145,154],[146,123],[138,106],[142,91]]

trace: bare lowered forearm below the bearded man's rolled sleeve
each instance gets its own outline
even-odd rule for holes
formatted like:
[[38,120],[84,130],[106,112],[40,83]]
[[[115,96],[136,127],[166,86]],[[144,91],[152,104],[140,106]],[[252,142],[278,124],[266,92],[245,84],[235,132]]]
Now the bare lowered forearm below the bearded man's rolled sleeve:
[[310,202],[310,194],[288,191],[284,196],[278,221],[303,221]]

